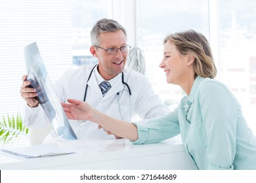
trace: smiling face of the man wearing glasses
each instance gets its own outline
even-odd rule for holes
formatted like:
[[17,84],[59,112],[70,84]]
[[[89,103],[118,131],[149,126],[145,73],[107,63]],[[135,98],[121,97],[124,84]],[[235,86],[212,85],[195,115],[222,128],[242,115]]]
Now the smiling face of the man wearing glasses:
[[[114,78],[119,73],[123,72],[125,67],[128,52],[121,53],[117,50],[116,54],[109,55],[105,50],[108,48],[120,48],[127,45],[127,40],[123,31],[106,32],[100,34],[101,48],[91,48],[93,56],[98,58],[98,72],[105,80]],[[104,48],[105,50],[103,50]],[[92,51],[93,50],[93,51]]]

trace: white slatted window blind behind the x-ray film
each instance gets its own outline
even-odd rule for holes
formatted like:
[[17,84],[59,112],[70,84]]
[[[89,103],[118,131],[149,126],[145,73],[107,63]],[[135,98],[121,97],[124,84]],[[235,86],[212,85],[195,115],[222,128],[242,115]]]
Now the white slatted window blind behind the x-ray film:
[[23,48],[32,42],[54,83],[72,66],[71,0],[0,1],[0,118],[22,111]]

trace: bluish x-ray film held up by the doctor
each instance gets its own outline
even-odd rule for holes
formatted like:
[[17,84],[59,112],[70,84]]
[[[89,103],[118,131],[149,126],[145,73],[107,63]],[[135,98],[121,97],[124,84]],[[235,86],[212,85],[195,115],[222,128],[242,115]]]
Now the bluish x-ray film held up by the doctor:
[[68,118],[53,89],[53,84],[41,59],[36,42],[24,47],[29,86],[37,89],[35,97],[47,115],[56,135],[62,139],[77,139]]

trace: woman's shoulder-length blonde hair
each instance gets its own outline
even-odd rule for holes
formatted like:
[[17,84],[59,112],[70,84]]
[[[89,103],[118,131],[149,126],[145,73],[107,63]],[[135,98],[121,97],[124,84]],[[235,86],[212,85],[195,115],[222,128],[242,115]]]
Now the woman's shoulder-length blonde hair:
[[192,54],[195,57],[194,70],[196,75],[203,78],[215,78],[217,69],[213,61],[211,48],[202,33],[194,30],[173,33],[165,37],[163,44],[167,41],[173,42],[183,56]]

